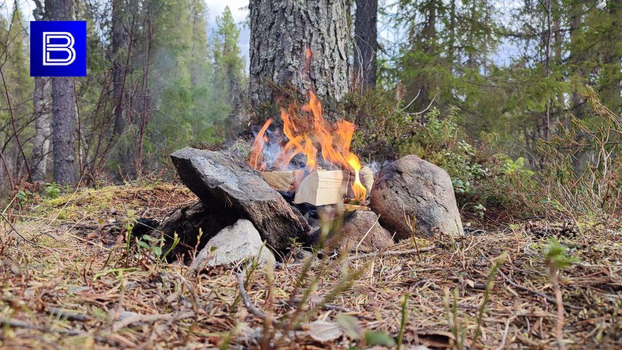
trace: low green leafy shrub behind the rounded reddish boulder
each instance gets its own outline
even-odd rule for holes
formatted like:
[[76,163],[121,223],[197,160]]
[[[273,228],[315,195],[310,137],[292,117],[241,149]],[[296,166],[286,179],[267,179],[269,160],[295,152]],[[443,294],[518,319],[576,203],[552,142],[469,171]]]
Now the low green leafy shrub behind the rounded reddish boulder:
[[435,108],[407,113],[401,100],[381,91],[350,95],[343,108],[358,126],[353,146],[363,159],[383,162],[415,154],[434,163],[452,177],[458,205],[480,217],[491,208],[524,208],[516,189],[531,187],[534,173],[523,158],[499,151],[496,134],[468,140],[456,123],[457,108],[444,116]]

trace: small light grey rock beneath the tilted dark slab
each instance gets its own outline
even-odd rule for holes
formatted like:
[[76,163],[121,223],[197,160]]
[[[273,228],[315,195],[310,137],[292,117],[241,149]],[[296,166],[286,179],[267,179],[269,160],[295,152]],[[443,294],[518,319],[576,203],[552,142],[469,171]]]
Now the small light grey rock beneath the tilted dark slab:
[[190,268],[230,265],[246,258],[256,257],[260,250],[259,262],[274,262],[272,252],[262,246],[261,236],[253,223],[246,219],[239,219],[235,224],[225,227],[208,240],[190,264]]

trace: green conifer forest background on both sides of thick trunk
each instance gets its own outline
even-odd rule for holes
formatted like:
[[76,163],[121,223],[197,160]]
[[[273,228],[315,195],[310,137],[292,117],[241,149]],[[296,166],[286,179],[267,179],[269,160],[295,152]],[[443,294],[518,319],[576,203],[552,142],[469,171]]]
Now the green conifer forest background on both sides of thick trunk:
[[[29,76],[28,21],[46,19],[48,2],[58,1],[0,4],[3,199],[34,196],[37,182],[54,196],[153,176],[171,151],[248,144],[265,120],[249,102],[248,19],[229,7],[73,1],[70,16],[88,25],[88,73],[67,85],[74,146],[63,159],[75,171],[55,171],[54,141],[64,136],[53,135],[51,83]],[[366,163],[429,159],[452,175],[462,209],[480,216],[524,202],[560,214],[620,209],[622,1],[348,6],[350,61],[361,55],[355,23],[367,18],[378,31],[367,43],[377,73],[354,74],[332,113],[356,122]]]

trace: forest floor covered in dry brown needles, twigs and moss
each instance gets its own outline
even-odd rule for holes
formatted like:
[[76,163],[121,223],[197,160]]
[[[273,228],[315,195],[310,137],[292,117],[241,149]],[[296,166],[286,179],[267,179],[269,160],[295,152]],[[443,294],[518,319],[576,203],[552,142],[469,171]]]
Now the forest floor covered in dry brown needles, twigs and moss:
[[[455,240],[417,240],[419,254],[413,242],[351,253],[311,265],[314,291],[296,288],[304,265],[291,260],[273,274],[248,273],[244,306],[234,271],[196,274],[137,260],[105,229],[132,210],[162,219],[195,200],[185,187],[160,182],[85,189],[7,210],[27,240],[0,224],[0,348],[237,349],[256,348],[269,334],[264,339],[282,348],[341,349],[390,343],[372,332],[379,331],[432,349],[554,349],[557,305],[542,253],[550,237],[577,258],[560,272],[565,346],[622,348],[622,232],[615,223],[586,220],[575,232],[547,222],[488,224]],[[509,258],[493,277],[472,344],[487,275],[504,251]],[[296,306],[305,298],[310,306]]]

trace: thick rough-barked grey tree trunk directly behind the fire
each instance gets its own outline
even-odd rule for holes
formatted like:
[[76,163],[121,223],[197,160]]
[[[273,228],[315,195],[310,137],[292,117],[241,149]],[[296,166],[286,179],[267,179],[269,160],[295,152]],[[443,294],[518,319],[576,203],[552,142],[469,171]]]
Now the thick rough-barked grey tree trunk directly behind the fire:
[[277,93],[269,82],[299,93],[313,89],[324,101],[348,92],[346,0],[253,0],[249,7],[249,95],[256,113],[274,108]]

